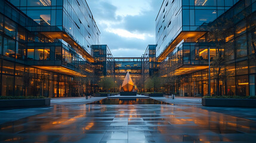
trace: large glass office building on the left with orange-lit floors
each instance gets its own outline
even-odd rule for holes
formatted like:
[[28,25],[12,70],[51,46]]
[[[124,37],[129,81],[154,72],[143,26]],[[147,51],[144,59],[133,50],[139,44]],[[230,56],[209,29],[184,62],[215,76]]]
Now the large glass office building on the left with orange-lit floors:
[[0,1],[1,95],[92,92],[100,31],[86,1]]

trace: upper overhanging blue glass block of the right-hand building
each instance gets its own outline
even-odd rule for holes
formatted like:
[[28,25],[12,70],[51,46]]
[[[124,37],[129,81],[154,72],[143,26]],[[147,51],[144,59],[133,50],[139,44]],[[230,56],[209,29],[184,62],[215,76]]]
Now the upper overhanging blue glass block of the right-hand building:
[[[193,42],[196,36],[177,37],[182,32],[205,31],[207,24],[229,10],[238,0],[165,0],[156,18],[156,57],[159,58],[176,40]],[[174,46],[176,46],[174,45]],[[166,55],[165,55],[166,56]]]

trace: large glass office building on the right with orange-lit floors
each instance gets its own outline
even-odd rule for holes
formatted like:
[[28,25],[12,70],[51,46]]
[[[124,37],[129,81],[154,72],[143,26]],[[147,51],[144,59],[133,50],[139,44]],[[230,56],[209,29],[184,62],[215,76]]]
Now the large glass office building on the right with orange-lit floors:
[[164,92],[255,95],[255,3],[164,1],[156,18],[156,57],[161,76],[177,80]]

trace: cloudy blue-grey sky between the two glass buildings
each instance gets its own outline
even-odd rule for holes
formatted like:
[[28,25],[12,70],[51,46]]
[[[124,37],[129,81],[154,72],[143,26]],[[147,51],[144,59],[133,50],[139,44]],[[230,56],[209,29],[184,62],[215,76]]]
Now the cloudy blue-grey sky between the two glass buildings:
[[155,44],[155,19],[162,0],[87,0],[114,57],[141,57]]

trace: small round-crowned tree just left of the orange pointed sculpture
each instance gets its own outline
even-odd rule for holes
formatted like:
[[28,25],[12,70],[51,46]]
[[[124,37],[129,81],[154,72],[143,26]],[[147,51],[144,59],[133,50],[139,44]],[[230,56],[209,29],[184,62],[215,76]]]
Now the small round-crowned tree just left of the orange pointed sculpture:
[[110,89],[117,87],[115,80],[112,77],[103,77],[98,82],[98,86],[102,88],[104,92],[108,92]]

